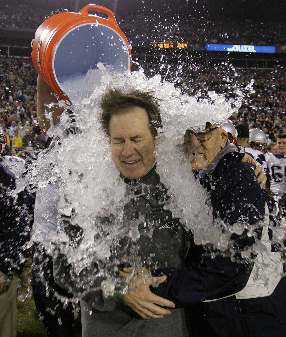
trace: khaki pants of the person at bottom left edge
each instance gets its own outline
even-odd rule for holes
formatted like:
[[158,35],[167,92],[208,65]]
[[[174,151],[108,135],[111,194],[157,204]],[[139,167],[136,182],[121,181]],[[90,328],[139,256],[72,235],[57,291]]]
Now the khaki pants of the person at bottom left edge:
[[0,295],[0,337],[17,335],[17,280],[14,273],[6,292]]

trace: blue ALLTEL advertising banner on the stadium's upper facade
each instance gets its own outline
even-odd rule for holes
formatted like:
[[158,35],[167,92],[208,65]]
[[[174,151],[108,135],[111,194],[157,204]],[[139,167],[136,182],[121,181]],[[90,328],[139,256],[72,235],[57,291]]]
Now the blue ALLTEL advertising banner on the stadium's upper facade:
[[276,47],[273,45],[207,43],[206,49],[211,50],[211,51],[221,51],[221,52],[276,53]]

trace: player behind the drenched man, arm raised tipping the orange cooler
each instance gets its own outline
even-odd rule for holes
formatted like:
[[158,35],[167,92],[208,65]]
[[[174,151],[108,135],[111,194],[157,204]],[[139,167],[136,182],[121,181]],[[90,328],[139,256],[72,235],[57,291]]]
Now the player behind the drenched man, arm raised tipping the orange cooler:
[[[59,123],[62,108],[55,93],[38,75],[37,80],[37,116],[41,130],[46,131]],[[54,103],[51,104],[51,103]],[[51,115],[49,119],[45,112]],[[75,129],[55,128],[54,134],[47,142],[45,150],[50,153],[59,146],[61,140],[68,137]],[[46,329],[48,336],[62,337],[74,335],[74,312],[70,303],[72,297],[65,289],[58,286],[52,274],[52,256],[50,256],[42,243],[50,241],[57,232],[58,211],[58,182],[48,183],[46,187],[38,187],[36,193],[35,214],[33,224],[33,296],[36,309]],[[63,303],[62,300],[66,302]],[[48,309],[46,309],[48,308]]]

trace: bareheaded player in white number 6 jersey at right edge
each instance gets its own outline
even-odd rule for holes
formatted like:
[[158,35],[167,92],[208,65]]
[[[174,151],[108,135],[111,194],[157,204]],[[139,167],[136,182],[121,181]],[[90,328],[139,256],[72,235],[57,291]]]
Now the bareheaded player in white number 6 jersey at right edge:
[[277,140],[278,153],[267,153],[267,168],[271,177],[270,191],[278,196],[286,193],[286,133],[281,133]]

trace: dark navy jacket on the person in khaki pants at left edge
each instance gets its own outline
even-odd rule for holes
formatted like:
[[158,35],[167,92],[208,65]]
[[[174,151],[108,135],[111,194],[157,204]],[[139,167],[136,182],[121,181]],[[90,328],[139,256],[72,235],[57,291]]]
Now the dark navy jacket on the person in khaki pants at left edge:
[[12,197],[14,189],[15,179],[0,166],[0,271],[8,276],[13,271],[20,274],[29,257],[28,193],[24,190]]

